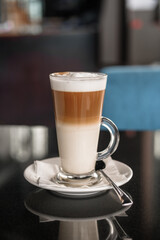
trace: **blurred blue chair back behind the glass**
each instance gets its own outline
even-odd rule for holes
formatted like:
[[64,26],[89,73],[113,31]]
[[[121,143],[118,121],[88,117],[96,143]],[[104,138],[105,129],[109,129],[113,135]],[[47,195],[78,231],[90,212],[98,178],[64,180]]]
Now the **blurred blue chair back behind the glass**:
[[103,115],[119,130],[160,129],[160,66],[117,66],[108,75]]

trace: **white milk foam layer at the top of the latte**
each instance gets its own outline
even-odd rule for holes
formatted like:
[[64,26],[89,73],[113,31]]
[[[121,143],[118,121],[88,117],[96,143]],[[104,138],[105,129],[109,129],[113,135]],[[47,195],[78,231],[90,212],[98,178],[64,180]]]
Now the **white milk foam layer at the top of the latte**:
[[93,92],[106,88],[107,75],[89,72],[58,72],[49,75],[51,88],[62,92]]

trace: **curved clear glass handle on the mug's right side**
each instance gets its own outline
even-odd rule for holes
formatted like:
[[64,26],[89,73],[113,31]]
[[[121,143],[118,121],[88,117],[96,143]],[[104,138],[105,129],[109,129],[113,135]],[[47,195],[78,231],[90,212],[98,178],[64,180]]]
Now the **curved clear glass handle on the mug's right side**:
[[110,142],[106,149],[98,152],[97,160],[103,160],[112,155],[116,151],[120,140],[118,128],[110,119],[101,117],[101,125],[108,129],[110,133]]

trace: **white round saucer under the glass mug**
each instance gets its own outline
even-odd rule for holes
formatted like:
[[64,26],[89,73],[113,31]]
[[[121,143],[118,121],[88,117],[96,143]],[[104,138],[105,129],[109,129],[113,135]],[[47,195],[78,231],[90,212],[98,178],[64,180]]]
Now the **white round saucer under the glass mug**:
[[[117,176],[112,175],[111,178],[112,180],[118,185],[121,186],[125,183],[127,183],[133,175],[132,169],[127,166],[124,163],[115,161],[115,160],[111,160],[113,161],[115,167],[118,169],[119,172],[119,176],[117,178]],[[46,159],[41,161],[43,163],[51,163],[54,168],[54,165],[60,165],[60,159],[59,158],[52,158],[52,159]],[[107,172],[107,169],[104,169],[104,171]],[[107,172],[108,173],[108,172]],[[26,170],[24,171],[24,177],[26,178],[26,180],[28,182],[30,182],[31,184],[43,188],[43,189],[47,189],[47,190],[52,190],[55,192],[58,192],[59,194],[65,194],[65,195],[70,195],[70,196],[79,196],[79,197],[83,197],[83,196],[90,196],[92,194],[97,194],[99,192],[102,191],[106,191],[108,189],[111,189],[111,186],[109,185],[109,183],[106,180],[101,181],[100,183],[97,183],[91,187],[69,187],[69,186],[65,186],[63,184],[58,184],[56,182],[52,182],[50,179],[45,179],[44,183],[37,183],[37,175],[35,172],[35,168],[34,168],[34,164],[30,165],[29,167],[26,168]]]

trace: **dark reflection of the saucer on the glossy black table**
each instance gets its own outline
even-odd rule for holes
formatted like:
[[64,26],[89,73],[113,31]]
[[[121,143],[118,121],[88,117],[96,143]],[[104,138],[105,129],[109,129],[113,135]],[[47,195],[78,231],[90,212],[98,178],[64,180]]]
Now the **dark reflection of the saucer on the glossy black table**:
[[33,214],[50,221],[100,220],[121,215],[130,208],[122,206],[113,190],[96,197],[73,199],[38,189],[28,195],[25,206]]

